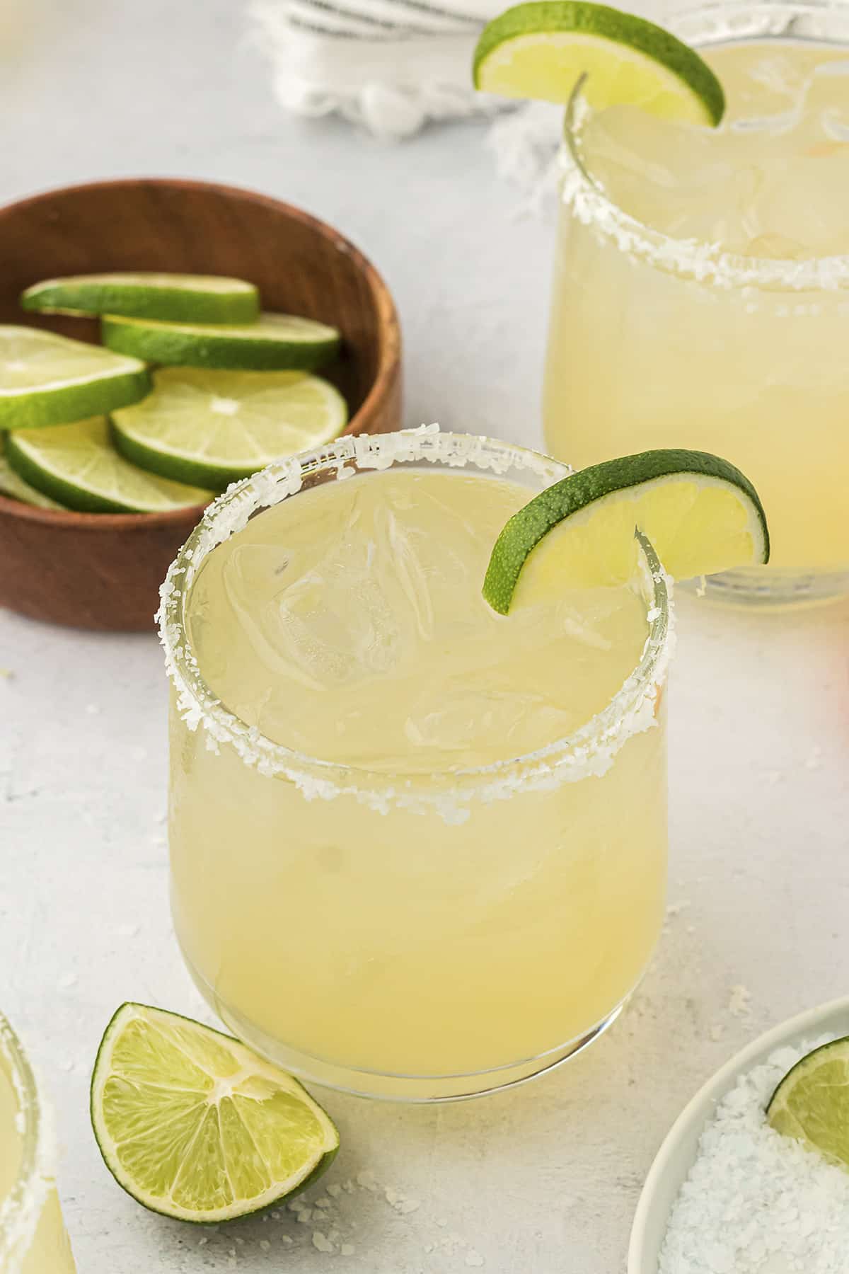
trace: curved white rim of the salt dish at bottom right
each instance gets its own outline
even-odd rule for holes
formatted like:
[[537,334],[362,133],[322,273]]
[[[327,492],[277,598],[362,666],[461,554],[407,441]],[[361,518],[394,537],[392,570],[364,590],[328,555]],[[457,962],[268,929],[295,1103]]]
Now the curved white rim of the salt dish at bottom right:
[[[664,1192],[663,1187],[668,1185],[670,1177],[677,1178],[680,1145],[687,1134],[694,1133],[698,1127],[699,1136],[701,1135],[717,1102],[731,1091],[740,1075],[751,1070],[776,1049],[799,1043],[807,1036],[817,1034],[827,1022],[835,1018],[846,1018],[849,1028],[849,996],[826,1000],[824,1004],[804,1009],[802,1013],[785,1018],[778,1026],[764,1031],[755,1040],[750,1040],[699,1087],[663,1138],[645,1177],[631,1224],[626,1274],[657,1274],[657,1266],[648,1264],[648,1232],[654,1212],[661,1206],[657,1201],[658,1196]],[[692,1162],[689,1162],[686,1172],[677,1181],[676,1195],[691,1167]]]

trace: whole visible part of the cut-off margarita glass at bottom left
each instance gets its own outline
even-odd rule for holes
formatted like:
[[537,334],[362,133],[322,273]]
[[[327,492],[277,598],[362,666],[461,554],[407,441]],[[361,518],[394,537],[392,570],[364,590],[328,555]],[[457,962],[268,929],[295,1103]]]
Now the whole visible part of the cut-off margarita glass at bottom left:
[[59,1209],[50,1120],[0,1014],[0,1274],[74,1274]]

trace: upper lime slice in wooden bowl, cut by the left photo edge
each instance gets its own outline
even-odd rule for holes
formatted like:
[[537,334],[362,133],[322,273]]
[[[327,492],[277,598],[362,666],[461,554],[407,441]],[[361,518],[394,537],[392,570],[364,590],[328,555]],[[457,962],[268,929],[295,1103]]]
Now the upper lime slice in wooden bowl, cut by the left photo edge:
[[81,420],[137,403],[149,389],[137,358],[38,327],[0,325],[0,429]]

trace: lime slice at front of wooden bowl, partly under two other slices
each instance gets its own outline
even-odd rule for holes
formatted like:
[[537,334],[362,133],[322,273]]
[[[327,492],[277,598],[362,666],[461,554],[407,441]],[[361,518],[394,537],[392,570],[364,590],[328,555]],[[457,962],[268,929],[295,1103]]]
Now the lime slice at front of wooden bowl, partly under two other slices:
[[112,446],[102,415],[15,431],[6,437],[6,459],[24,482],[83,513],[164,513],[213,498],[209,490],[136,469]]

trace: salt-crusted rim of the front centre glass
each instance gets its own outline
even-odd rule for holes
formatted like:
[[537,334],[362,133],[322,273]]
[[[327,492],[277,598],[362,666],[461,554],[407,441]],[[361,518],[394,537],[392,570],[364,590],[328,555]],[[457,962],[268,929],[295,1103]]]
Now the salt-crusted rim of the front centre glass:
[[518,469],[536,474],[542,485],[572,471],[568,465],[536,451],[471,433],[442,433],[439,426],[430,424],[397,433],[349,434],[299,456],[275,461],[253,478],[234,483],[209,506],[171,564],[160,590],[157,619],[177,711],[190,730],[199,726],[204,730],[213,750],[221,744],[232,745],[247,764],[256,766],[262,775],[288,778],[308,800],[354,796],[381,813],[395,805],[414,810],[437,806],[453,822],[467,817],[463,806],[475,798],[484,801],[507,799],[517,791],[550,789],[588,775],[603,775],[622,744],[654,722],[656,696],[666,680],[673,642],[671,581],[642,535],[650,603],[649,632],[639,664],[610,703],[568,739],[517,758],[430,775],[375,772],[319,761],[274,743],[256,726],[246,725],[204,682],[186,640],[185,612],[192,581],[206,555],[244,527],[252,513],[300,490],[311,475],[335,471],[336,479],[344,479],[354,473],[346,468],[347,462],[356,470],[384,470],[393,464],[416,461],[452,469],[471,464],[496,474]]

